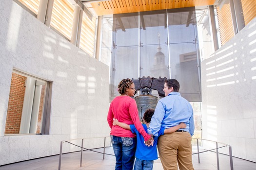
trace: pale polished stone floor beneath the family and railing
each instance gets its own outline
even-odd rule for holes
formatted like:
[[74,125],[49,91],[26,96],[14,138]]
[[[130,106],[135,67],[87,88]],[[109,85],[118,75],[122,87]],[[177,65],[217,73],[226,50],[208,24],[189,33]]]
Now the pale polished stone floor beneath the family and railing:
[[[61,157],[61,170],[115,170],[115,156],[113,148],[103,148],[94,151],[83,151],[82,166],[80,167],[80,152],[65,153]],[[256,170],[256,163],[233,157],[234,170]],[[214,152],[200,153],[200,163],[197,154],[193,154],[193,166],[195,170],[217,170],[217,156]],[[58,170],[59,155],[48,156],[14,164],[0,166],[0,170]],[[163,170],[160,159],[154,161],[153,170]],[[230,170],[229,156],[219,154],[219,170]]]

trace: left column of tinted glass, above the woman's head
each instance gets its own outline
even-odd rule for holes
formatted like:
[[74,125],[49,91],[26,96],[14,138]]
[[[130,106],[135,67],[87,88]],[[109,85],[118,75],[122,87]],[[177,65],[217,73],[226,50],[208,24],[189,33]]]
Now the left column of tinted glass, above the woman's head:
[[138,13],[113,16],[110,98],[119,95],[117,86],[124,78],[138,78]]

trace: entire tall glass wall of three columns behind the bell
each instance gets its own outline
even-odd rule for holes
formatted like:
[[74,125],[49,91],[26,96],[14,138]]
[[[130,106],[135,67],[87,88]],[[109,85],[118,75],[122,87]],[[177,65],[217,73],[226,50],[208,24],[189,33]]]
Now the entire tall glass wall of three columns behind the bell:
[[123,78],[166,77],[180,83],[190,102],[201,101],[195,8],[113,16],[110,98]]

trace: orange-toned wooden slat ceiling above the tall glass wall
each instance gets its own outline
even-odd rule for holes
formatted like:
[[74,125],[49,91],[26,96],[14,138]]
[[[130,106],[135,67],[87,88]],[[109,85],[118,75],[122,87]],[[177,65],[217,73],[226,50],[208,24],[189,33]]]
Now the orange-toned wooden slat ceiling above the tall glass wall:
[[98,16],[214,5],[216,0],[81,0],[91,3]]

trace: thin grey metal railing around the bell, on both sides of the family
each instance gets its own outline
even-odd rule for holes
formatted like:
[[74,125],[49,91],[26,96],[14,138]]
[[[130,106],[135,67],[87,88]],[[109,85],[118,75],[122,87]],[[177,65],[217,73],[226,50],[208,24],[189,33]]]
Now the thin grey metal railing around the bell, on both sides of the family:
[[[115,156],[114,154],[108,154],[108,153],[105,153],[105,148],[106,148],[106,137],[110,137],[110,136],[105,136],[104,137],[104,147],[103,147],[103,159],[105,159],[105,154],[107,155],[113,155]],[[103,138],[103,137],[94,137],[94,138]],[[74,146],[77,146],[79,148],[81,148],[81,156],[80,156],[80,167],[82,166],[82,157],[83,157],[83,151],[92,151],[92,152],[96,152],[96,153],[101,153],[101,152],[97,152],[97,151],[93,151],[92,149],[87,149],[87,148],[84,148],[83,147],[83,139],[88,139],[88,138],[77,138],[77,139],[71,139],[71,140],[63,140],[63,141],[60,141],[60,149],[59,149],[59,169],[60,170],[60,167],[61,167],[61,158],[62,158],[62,146],[63,146],[63,143],[64,142],[67,142],[71,145],[74,145]],[[230,159],[230,170],[234,170],[234,167],[233,167],[233,156],[232,156],[232,147],[228,144],[225,144],[225,143],[221,143],[221,142],[217,142],[217,141],[213,141],[213,140],[207,140],[207,139],[198,139],[198,138],[192,138],[192,139],[196,139],[197,140],[197,153],[192,153],[192,154],[197,154],[198,155],[198,163],[200,163],[200,153],[205,153],[205,152],[209,152],[209,151],[214,151],[216,150],[216,156],[217,156],[217,170],[219,170],[219,157],[218,157],[218,149],[220,148],[223,148],[223,147],[229,147],[229,159]],[[73,140],[81,140],[81,146],[79,145],[76,145],[74,143],[71,143],[70,141],[73,141]],[[205,151],[202,151],[202,152],[199,152],[199,142],[198,140],[206,140],[206,141],[210,141],[210,142],[215,142],[216,143],[216,148],[214,149],[211,149],[211,150],[205,150]],[[221,146],[221,147],[218,147],[218,144],[222,144],[224,146]]]

